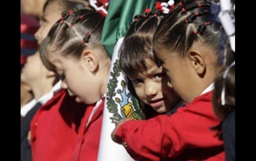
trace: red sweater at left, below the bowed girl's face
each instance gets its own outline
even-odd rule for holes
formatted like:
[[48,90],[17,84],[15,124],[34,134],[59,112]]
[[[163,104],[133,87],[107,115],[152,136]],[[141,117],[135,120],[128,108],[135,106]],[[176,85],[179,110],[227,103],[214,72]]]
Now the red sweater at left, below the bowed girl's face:
[[71,161],[85,109],[65,90],[40,107],[30,124],[32,159]]

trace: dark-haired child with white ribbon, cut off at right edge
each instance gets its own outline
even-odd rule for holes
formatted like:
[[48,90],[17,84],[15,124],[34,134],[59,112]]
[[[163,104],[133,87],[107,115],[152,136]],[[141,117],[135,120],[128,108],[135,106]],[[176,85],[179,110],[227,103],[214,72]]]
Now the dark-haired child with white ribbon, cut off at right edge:
[[212,129],[224,140],[226,160],[235,160],[235,62],[216,77],[214,85],[213,110],[221,123]]

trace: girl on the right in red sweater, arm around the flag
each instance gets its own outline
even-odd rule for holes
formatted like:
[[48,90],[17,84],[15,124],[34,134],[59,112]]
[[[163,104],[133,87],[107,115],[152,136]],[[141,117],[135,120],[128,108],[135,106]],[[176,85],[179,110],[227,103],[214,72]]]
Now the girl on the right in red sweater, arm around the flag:
[[211,100],[220,67],[220,27],[208,22],[210,2],[183,1],[161,21],[153,47],[168,83],[187,104],[171,116],[124,121],[113,139],[138,159],[224,160],[223,142],[209,127],[220,123]]

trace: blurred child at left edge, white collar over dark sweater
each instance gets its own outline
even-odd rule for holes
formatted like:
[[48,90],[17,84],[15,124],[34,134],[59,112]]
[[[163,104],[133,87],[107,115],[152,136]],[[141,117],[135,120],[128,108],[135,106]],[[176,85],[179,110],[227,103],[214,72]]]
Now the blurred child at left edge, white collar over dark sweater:
[[46,69],[40,59],[39,52],[27,58],[21,73],[21,82],[31,87],[34,99],[21,109],[23,119],[21,121],[21,160],[31,160],[31,148],[29,143],[30,122],[39,109],[60,89],[60,83],[55,74]]

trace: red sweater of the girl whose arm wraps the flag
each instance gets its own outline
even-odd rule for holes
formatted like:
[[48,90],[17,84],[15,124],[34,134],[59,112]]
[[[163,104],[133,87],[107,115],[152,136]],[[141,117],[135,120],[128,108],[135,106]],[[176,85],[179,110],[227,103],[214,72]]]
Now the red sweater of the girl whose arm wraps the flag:
[[212,92],[195,98],[171,115],[146,121],[129,120],[119,126],[116,136],[139,160],[225,160],[223,142],[209,128],[220,123],[212,109]]

